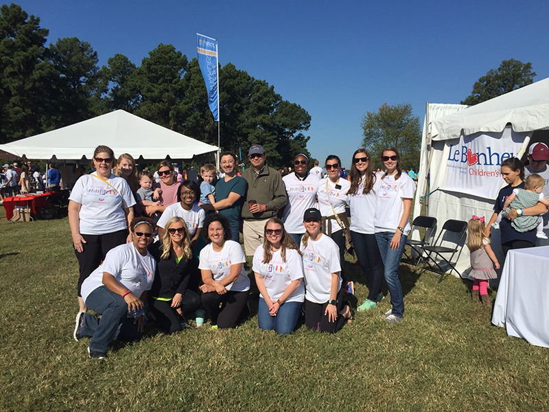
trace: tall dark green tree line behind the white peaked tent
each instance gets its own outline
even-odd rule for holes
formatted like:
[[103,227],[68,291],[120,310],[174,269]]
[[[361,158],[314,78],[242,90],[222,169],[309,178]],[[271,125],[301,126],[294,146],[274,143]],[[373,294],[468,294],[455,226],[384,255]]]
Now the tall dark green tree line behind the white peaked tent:
[[[218,126],[207,104],[198,60],[160,44],[135,65],[123,54],[98,66],[97,52],[76,37],[46,45],[49,30],[21,6],[0,8],[0,143],[123,109],[217,145]],[[220,67],[223,150],[253,143],[282,166],[307,151],[311,117],[274,87],[231,63]]]

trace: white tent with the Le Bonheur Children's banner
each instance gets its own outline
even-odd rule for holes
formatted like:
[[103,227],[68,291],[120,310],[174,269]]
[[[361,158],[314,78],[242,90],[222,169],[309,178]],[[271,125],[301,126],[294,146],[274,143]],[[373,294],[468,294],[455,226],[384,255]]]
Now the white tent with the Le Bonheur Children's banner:
[[[504,185],[500,163],[524,157],[531,143],[549,141],[549,78],[476,106],[447,110],[456,113],[436,117],[428,105],[414,206],[420,210],[420,197],[426,195],[421,202],[425,214],[438,220],[439,229],[447,219],[467,221],[472,215],[489,219]],[[500,233],[494,229],[492,247],[503,262]],[[467,247],[456,267],[467,275]]]

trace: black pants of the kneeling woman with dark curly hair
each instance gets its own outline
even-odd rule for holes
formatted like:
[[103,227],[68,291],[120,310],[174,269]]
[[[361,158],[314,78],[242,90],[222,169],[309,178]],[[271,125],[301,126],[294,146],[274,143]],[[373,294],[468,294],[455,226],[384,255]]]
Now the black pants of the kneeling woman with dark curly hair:
[[224,295],[219,295],[217,292],[202,293],[202,305],[208,312],[211,325],[218,325],[219,329],[234,328],[248,317],[250,314],[248,295],[250,290],[246,292],[227,290]]

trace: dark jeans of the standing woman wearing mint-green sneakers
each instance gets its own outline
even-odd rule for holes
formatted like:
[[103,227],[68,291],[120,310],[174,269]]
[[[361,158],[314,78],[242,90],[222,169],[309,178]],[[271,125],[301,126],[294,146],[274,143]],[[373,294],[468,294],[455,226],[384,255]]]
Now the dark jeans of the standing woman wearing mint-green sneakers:
[[383,262],[382,256],[379,254],[379,247],[377,247],[377,240],[373,233],[366,234],[355,231],[351,231],[351,239],[356,257],[370,288],[368,299],[375,301],[382,291],[383,284]]

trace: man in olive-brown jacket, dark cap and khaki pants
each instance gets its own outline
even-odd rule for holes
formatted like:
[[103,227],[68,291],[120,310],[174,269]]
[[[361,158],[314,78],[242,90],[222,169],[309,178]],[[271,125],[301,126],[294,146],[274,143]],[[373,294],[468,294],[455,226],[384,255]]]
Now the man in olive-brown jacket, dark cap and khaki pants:
[[266,165],[265,149],[254,144],[248,150],[251,166],[242,173],[248,182],[248,190],[242,207],[244,227],[244,249],[247,256],[253,256],[255,249],[263,244],[265,224],[286,204],[286,192],[282,178],[273,168]]

